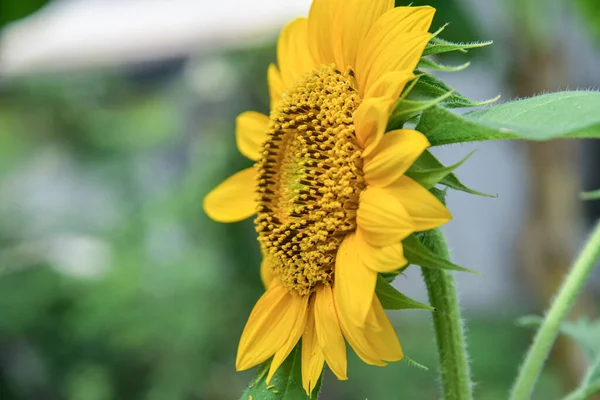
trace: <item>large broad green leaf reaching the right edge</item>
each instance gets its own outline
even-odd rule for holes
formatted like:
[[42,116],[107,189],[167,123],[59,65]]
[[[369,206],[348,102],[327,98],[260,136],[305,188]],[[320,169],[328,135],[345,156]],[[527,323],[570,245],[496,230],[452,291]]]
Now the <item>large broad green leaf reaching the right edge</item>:
[[557,92],[472,111],[423,112],[416,129],[432,146],[480,140],[600,138],[600,92]]

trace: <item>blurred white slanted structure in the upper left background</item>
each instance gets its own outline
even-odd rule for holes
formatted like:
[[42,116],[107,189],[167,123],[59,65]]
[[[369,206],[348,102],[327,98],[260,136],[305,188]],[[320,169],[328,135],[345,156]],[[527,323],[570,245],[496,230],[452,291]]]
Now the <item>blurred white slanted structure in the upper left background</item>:
[[0,76],[98,68],[271,40],[310,0],[62,0],[0,36]]

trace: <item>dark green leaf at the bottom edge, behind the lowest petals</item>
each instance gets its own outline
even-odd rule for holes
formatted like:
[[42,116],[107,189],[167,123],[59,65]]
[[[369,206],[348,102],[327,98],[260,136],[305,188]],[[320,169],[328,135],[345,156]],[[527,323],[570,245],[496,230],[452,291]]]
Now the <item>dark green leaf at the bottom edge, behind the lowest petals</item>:
[[[299,342],[288,358],[273,375],[267,385],[267,374],[271,360],[260,366],[258,373],[250,386],[246,389],[240,400],[309,400],[302,387],[302,357],[301,342]],[[312,398],[318,397],[321,389],[321,379],[313,390]]]

